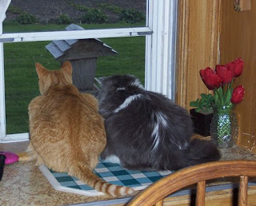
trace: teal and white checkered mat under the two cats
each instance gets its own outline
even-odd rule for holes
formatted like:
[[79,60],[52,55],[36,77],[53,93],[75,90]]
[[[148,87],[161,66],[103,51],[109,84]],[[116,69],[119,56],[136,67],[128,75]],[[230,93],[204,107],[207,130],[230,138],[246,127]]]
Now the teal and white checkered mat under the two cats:
[[[56,190],[73,192],[86,196],[103,195],[102,192],[90,188],[81,180],[78,180],[74,176],[69,176],[66,172],[54,172],[46,168],[45,165],[40,166],[40,170]],[[153,182],[161,179],[163,176],[169,175],[171,172],[131,171],[122,168],[120,164],[99,161],[97,167],[94,168],[94,173],[112,184],[128,186],[134,188],[134,190],[142,190]]]

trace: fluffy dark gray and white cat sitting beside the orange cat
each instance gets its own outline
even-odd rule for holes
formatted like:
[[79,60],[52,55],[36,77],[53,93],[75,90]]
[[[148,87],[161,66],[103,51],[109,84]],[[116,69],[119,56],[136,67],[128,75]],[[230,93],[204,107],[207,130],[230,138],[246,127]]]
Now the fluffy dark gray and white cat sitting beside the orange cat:
[[107,137],[103,160],[135,170],[178,170],[220,158],[212,141],[191,140],[186,109],[146,91],[134,76],[104,78],[98,101]]

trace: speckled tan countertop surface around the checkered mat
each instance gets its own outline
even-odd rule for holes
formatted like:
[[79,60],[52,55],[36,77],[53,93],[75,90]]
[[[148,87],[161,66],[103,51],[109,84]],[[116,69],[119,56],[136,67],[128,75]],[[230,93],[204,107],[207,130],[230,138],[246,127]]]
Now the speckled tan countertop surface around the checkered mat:
[[[0,151],[23,153],[28,141],[2,143]],[[221,149],[222,160],[256,160],[256,155],[234,146]],[[111,200],[110,196],[82,196],[56,191],[34,162],[19,160],[6,165],[0,181],[0,205],[63,205]]]

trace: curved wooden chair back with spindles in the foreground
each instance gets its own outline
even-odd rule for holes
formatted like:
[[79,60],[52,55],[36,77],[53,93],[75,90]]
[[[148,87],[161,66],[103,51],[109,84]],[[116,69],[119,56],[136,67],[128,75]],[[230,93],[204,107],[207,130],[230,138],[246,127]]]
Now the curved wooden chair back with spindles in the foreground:
[[256,176],[256,161],[226,160],[183,168],[163,177],[135,196],[127,206],[163,205],[163,199],[181,188],[197,183],[196,205],[205,205],[206,180],[240,176],[238,205],[246,205],[248,176]]

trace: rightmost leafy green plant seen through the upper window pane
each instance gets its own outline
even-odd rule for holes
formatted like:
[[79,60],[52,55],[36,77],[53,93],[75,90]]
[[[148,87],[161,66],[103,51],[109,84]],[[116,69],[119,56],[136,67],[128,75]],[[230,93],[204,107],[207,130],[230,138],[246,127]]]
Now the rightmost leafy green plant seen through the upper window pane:
[[145,16],[142,12],[135,9],[125,9],[122,10],[120,14],[120,20],[125,21],[127,23],[136,23],[142,22],[145,20]]

